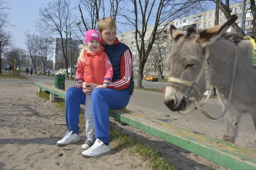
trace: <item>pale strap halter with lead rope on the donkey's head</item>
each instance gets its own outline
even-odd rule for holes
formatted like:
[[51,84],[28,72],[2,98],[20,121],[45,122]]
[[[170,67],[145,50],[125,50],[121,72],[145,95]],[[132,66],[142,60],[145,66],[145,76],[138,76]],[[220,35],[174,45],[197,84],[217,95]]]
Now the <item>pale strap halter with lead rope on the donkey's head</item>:
[[[234,80],[234,76],[235,76],[235,69],[236,69],[236,59],[237,59],[237,50],[236,50],[236,58],[235,58],[235,63],[234,63],[234,68],[233,68],[233,79],[232,79],[232,84],[231,84],[231,88],[230,88],[230,94],[229,94],[229,98],[226,104],[226,107],[224,109],[224,112],[221,114],[220,117],[218,118],[214,118],[212,116],[210,116],[206,111],[203,110],[203,108],[201,108],[201,106],[203,106],[208,99],[211,96],[212,93],[212,85],[210,83],[210,79],[209,79],[209,46],[206,46],[206,52],[205,52],[205,57],[204,57],[204,63],[202,65],[202,68],[198,74],[198,76],[196,77],[195,81],[187,81],[187,80],[183,80],[183,79],[179,79],[179,78],[175,78],[175,77],[169,77],[167,82],[173,82],[173,83],[177,83],[177,84],[181,84],[181,85],[186,85],[189,86],[191,88],[191,90],[189,92],[186,92],[184,94],[185,99],[187,101],[193,102],[195,104],[195,108],[189,109],[188,111],[185,112],[180,112],[177,111],[180,114],[188,114],[191,113],[195,110],[200,110],[201,113],[204,114],[204,116],[207,116],[209,119],[220,119],[221,117],[223,117],[225,115],[225,113],[227,112],[227,109],[229,108],[230,102],[231,102],[231,96],[232,96],[232,89],[233,89],[233,80]],[[207,94],[207,98],[205,99],[204,103],[202,105],[199,105],[198,102],[200,102],[203,93],[200,91],[199,87],[198,87],[198,82],[203,74],[205,70],[205,81],[206,81],[206,90],[208,90],[208,94]],[[195,96],[193,96],[193,92],[196,92],[198,94],[198,98],[196,99]]]

